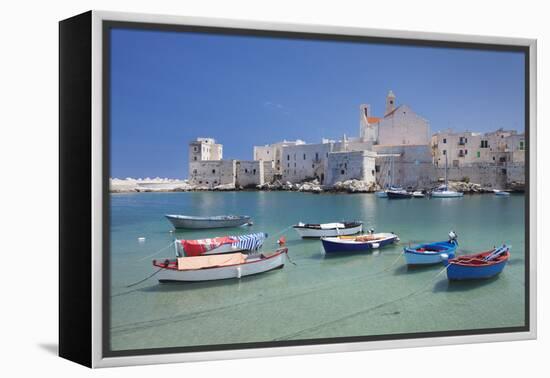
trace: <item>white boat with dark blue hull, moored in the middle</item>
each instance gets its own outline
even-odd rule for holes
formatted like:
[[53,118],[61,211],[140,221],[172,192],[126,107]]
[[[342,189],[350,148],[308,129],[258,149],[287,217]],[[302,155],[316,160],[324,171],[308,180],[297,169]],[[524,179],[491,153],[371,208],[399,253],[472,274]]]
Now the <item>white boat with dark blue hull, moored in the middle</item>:
[[399,241],[399,238],[390,232],[321,238],[325,253],[368,251],[384,247],[396,241]]

